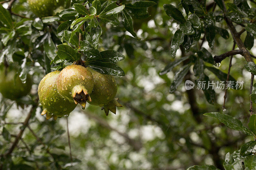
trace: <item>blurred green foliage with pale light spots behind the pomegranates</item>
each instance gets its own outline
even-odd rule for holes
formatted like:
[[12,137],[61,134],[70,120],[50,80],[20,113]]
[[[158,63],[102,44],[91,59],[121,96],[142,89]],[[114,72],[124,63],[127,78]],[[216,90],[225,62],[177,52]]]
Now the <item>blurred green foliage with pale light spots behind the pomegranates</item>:
[[[129,1],[130,2],[130,1]],[[103,34],[100,37],[100,51],[114,49],[125,55],[118,65],[124,70],[125,76],[116,77],[119,98],[122,108],[117,108],[116,115],[106,116],[99,107],[87,104],[86,109],[80,107],[68,117],[73,161],[69,157],[66,118],[45,120],[41,116],[41,108],[32,113],[29,128],[26,128],[11,156],[1,158],[4,169],[170,169],[181,170],[193,165],[211,164],[222,168],[227,152],[233,153],[242,144],[253,140],[241,132],[228,129],[215,119],[203,116],[204,113],[218,111],[223,113],[222,104],[224,90],[216,90],[216,101],[209,104],[202,90],[186,91],[182,83],[177,91],[169,93],[174,73],[181,65],[171,72],[159,75],[166,64],[179,59],[184,49],[178,49],[176,58],[170,56],[172,36],[177,30],[177,23],[168,17],[164,4],[178,6],[185,13],[180,1],[155,0],[157,5],[148,9],[151,16],[143,20],[133,20],[135,32],[141,41],[137,41],[125,32],[122,22],[118,27],[100,22]],[[206,5],[213,1],[206,1]],[[229,1],[225,1],[229,2]],[[230,1],[231,2],[231,1]],[[127,2],[123,1],[123,4]],[[255,3],[248,1],[252,7]],[[3,3],[3,6],[8,3]],[[211,10],[212,7],[209,7]],[[218,8],[218,7],[217,7]],[[26,0],[15,1],[12,11],[20,15],[36,18],[28,9]],[[19,17],[16,20],[20,20]],[[227,29],[224,21],[218,23]],[[52,26],[54,27],[54,25]],[[47,30],[52,27],[45,26]],[[237,26],[237,29],[242,28]],[[56,29],[56,28],[55,28]],[[22,37],[24,43],[43,35],[42,32],[31,29],[31,36]],[[38,34],[38,35],[37,35]],[[53,33],[52,33],[53,34]],[[241,38],[244,40],[246,32]],[[52,38],[54,40],[54,35]],[[2,38],[2,37],[1,37]],[[15,40],[14,40],[15,41]],[[16,41],[19,41],[18,39]],[[201,40],[193,44],[193,48],[206,48],[212,56],[230,51],[233,39],[216,35],[214,48],[207,41]],[[58,42],[54,40],[54,42]],[[40,39],[33,42],[40,44]],[[61,42],[59,42],[60,44]],[[250,50],[256,55],[255,44]],[[20,45],[20,44],[19,44]],[[0,43],[0,47],[3,44]],[[238,49],[238,48],[236,48]],[[24,58],[21,49],[13,54],[13,58]],[[3,53],[3,51],[1,51]],[[23,54],[21,54],[23,53]],[[27,62],[29,74],[33,76],[33,86],[25,101],[30,104],[35,99],[37,85],[50,68],[42,67],[47,58],[40,51],[34,51],[33,63]],[[17,59],[21,61],[20,59]],[[228,58],[222,61],[219,69],[228,72]],[[244,81],[243,89],[228,90],[226,111],[224,113],[238,118],[244,124],[249,118],[249,89],[251,74],[244,70],[246,61],[240,55],[232,60],[230,75],[236,80]],[[205,74],[211,81],[219,79],[210,71]],[[193,82],[193,67],[184,80]],[[24,101],[23,101],[24,102]],[[1,98],[0,110],[0,153],[5,153],[11,147],[15,135],[22,129],[22,124],[31,106],[24,108],[9,99]],[[12,124],[8,122],[15,122]],[[31,129],[31,130],[30,130]],[[33,134],[34,133],[34,134]],[[7,135],[7,136],[6,136]]]

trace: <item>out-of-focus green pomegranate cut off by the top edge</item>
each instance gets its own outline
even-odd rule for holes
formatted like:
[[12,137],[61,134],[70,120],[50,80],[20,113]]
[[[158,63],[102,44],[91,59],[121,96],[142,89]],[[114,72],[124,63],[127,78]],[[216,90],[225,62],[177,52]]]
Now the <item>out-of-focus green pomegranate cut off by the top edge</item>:
[[57,12],[69,8],[71,0],[28,0],[28,5],[31,11],[37,17],[49,17],[55,15]]

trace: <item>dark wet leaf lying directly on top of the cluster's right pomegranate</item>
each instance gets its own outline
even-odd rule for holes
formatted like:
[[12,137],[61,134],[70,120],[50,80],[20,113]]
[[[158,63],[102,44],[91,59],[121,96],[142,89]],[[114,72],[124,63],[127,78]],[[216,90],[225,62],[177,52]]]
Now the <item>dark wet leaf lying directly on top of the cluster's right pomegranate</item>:
[[109,74],[118,77],[124,76],[124,71],[119,66],[113,63],[96,61],[92,63],[87,63],[87,65],[89,65],[93,70],[96,70],[102,74]]

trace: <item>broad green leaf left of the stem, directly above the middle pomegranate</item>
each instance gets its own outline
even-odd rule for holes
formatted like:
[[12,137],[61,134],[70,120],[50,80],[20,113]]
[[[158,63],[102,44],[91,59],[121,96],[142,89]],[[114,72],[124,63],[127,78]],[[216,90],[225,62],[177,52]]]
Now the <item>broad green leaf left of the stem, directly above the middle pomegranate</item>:
[[77,61],[79,59],[77,58],[76,52],[72,47],[65,44],[58,45],[57,47],[58,47],[58,51],[56,53],[61,60]]

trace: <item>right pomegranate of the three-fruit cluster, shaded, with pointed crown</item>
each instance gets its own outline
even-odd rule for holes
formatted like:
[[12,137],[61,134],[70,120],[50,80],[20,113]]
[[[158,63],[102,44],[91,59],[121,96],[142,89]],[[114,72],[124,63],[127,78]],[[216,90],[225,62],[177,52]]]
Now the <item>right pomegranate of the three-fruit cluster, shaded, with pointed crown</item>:
[[92,101],[90,104],[103,107],[106,115],[109,110],[116,114],[116,106],[122,107],[122,105],[115,98],[117,92],[116,79],[114,76],[101,74],[91,68],[88,68],[92,72],[94,79],[94,89],[90,94]]

